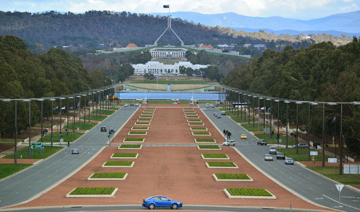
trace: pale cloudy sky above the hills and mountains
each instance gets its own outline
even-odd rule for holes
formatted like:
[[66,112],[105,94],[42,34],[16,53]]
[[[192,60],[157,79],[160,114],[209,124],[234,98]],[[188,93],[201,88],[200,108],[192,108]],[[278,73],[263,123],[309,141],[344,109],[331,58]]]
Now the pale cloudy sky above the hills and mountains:
[[131,13],[234,12],[246,16],[281,16],[300,20],[360,10],[360,0],[0,0],[1,11],[42,12],[56,10],[82,13],[89,10],[128,11]]

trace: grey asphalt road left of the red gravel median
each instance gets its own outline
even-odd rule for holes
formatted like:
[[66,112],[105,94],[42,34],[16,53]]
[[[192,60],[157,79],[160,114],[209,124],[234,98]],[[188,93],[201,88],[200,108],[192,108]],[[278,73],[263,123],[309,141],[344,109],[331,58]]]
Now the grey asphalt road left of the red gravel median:
[[[66,147],[36,166],[1,181],[0,207],[27,201],[71,174],[108,143],[108,132],[100,132],[100,126],[106,126],[107,129],[114,127],[116,132],[137,108],[122,107],[71,144],[71,147]],[[71,154],[72,148],[79,148],[79,154]],[[46,146],[44,149],[46,151]]]

